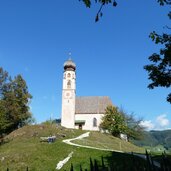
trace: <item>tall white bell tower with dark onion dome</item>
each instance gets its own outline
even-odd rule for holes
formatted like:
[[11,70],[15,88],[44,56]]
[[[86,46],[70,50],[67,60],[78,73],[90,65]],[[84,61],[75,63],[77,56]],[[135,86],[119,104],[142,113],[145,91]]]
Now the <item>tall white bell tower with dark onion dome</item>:
[[68,59],[64,63],[62,88],[62,116],[61,125],[75,128],[75,97],[76,97],[76,65]]

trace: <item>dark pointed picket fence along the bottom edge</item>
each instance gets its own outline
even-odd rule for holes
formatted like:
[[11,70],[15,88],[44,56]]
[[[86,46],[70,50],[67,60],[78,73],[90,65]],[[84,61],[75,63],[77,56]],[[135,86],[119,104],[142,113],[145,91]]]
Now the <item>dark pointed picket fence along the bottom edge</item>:
[[[83,168],[80,165],[79,169],[74,169],[74,164],[71,164],[69,171],[171,171],[171,158],[166,153],[163,153],[158,161],[154,160],[148,152],[144,155],[144,160],[137,160],[137,155],[134,153],[130,155],[130,158],[129,161],[123,160],[121,165],[117,162],[105,164],[103,157],[100,162],[90,158],[89,168]],[[10,169],[7,168],[6,171]],[[27,167],[26,171],[31,171],[31,169]]]

